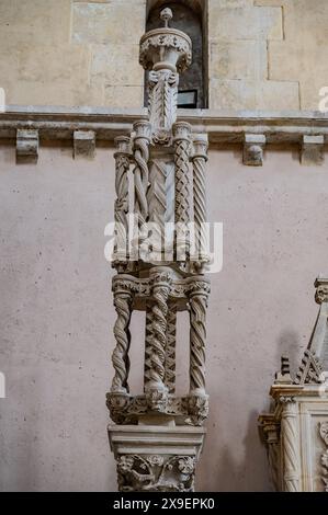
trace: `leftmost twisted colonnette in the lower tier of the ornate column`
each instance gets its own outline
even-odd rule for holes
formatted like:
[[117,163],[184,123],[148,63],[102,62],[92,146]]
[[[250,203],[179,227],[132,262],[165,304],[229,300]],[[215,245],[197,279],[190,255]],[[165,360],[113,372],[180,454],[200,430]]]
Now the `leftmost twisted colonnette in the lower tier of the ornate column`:
[[129,358],[128,350],[131,345],[129,321],[132,314],[133,296],[129,290],[120,287],[120,283],[114,289],[114,306],[117,318],[114,325],[114,336],[116,346],[113,351],[112,362],[115,375],[112,382],[112,392],[128,392]]

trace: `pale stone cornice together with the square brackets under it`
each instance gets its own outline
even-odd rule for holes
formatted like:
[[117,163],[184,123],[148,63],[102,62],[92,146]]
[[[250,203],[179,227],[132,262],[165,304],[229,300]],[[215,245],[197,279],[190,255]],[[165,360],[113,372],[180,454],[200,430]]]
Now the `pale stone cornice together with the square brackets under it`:
[[[192,131],[206,133],[210,146],[241,144],[244,164],[262,165],[268,144],[298,145],[302,164],[323,164],[328,144],[328,114],[301,111],[213,111],[178,110],[180,122]],[[97,141],[112,142],[129,135],[133,123],[147,121],[146,108],[60,107],[10,105],[0,113],[0,139],[16,139],[24,161],[37,159],[38,144],[30,151],[31,140],[70,140],[73,157],[91,158]],[[18,138],[19,131],[24,137]],[[88,135],[87,135],[88,133]],[[86,135],[86,136],[84,136]],[[16,158],[20,161],[18,145]],[[22,152],[21,152],[22,153]]]

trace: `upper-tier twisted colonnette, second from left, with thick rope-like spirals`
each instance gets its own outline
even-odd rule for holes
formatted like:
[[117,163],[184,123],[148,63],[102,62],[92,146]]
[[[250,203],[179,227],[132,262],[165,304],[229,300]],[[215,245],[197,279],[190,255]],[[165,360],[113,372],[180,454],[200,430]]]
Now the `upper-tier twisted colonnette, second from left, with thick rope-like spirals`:
[[149,187],[149,142],[151,125],[149,122],[136,122],[134,124],[134,182],[135,182],[135,213],[137,215],[138,238],[137,244],[143,241],[143,230],[148,218],[147,191]]

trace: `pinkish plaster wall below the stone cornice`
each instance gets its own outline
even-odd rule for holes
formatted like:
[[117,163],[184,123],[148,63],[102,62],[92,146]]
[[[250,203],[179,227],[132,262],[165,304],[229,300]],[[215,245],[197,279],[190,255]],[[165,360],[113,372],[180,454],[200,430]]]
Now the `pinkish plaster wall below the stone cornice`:
[[[211,416],[197,488],[268,491],[257,416],[280,354],[299,360],[315,321],[313,282],[328,272],[328,164],[301,167],[296,149],[271,149],[262,168],[244,167],[238,147],[210,158],[224,268],[212,276]],[[113,170],[105,148],[89,162],[73,161],[69,147],[42,147],[37,165],[15,165],[14,147],[0,148],[0,490],[116,488],[105,409],[115,314],[103,255]],[[181,369],[185,318],[179,329]],[[132,331],[137,391],[139,317]]]

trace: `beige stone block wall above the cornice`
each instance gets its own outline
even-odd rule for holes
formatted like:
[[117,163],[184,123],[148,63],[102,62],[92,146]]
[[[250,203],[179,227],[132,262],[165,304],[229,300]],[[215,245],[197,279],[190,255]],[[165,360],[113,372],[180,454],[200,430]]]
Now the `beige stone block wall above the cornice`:
[[[328,85],[326,0],[207,3],[210,108],[318,108]],[[145,24],[146,0],[2,0],[7,103],[140,106]]]

